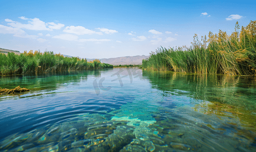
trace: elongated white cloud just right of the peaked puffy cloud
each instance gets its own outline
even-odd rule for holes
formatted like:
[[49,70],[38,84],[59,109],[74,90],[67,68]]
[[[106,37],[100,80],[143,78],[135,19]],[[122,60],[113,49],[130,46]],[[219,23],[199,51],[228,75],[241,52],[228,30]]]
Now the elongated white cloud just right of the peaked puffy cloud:
[[99,35],[102,35],[102,32],[96,32],[94,30],[84,28],[83,26],[67,26],[63,31],[67,32],[67,33],[74,33],[74,34],[77,34],[77,35],[83,35],[83,34],[99,34]]

